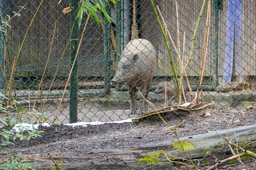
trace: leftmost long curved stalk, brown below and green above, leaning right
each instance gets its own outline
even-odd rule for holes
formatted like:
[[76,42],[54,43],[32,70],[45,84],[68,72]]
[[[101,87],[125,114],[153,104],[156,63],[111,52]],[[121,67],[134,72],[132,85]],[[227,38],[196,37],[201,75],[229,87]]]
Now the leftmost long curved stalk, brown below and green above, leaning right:
[[21,43],[21,46],[20,46],[20,49],[19,49],[19,52],[18,52],[17,56],[14,57],[13,65],[12,65],[12,70],[11,70],[11,77],[10,77],[10,81],[9,81],[9,82],[10,82],[10,85],[9,85],[9,95],[8,95],[8,104],[7,104],[7,106],[10,106],[10,104],[11,104],[12,84],[13,84],[13,81],[14,81],[13,78],[14,78],[15,67],[16,67],[16,64],[17,64],[18,57],[19,57],[19,55],[20,55],[20,53],[21,53],[21,49],[22,49],[22,47],[23,47],[23,45],[24,45],[24,43],[25,43],[25,40],[26,40],[26,38],[27,38],[29,29],[30,29],[30,27],[31,27],[31,25],[32,25],[32,22],[34,21],[37,12],[39,11],[41,5],[43,4],[43,1],[44,1],[44,0],[42,0],[41,3],[39,4],[39,6],[38,6],[38,8],[37,8],[37,10],[36,10],[36,12],[35,12],[35,14],[34,14],[32,20],[31,20],[31,22],[30,22],[30,25],[29,25],[29,27],[28,27],[28,29],[27,29],[27,32],[26,32],[25,36],[24,36],[23,42]]

